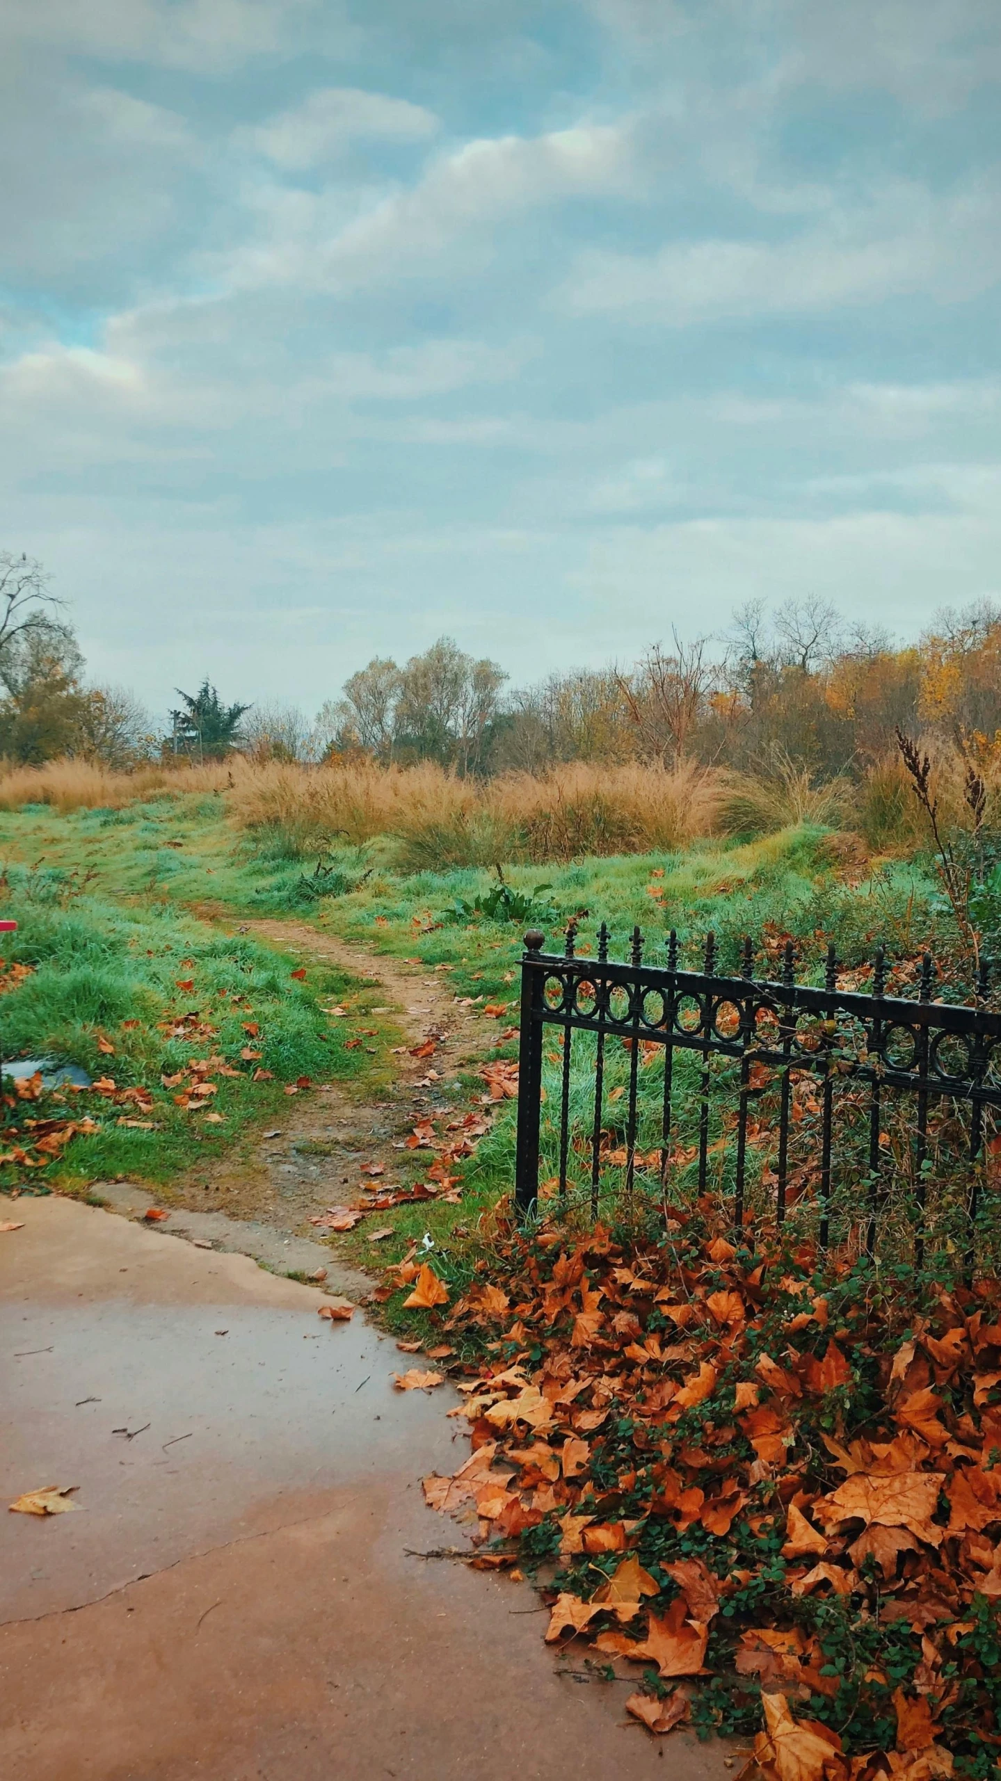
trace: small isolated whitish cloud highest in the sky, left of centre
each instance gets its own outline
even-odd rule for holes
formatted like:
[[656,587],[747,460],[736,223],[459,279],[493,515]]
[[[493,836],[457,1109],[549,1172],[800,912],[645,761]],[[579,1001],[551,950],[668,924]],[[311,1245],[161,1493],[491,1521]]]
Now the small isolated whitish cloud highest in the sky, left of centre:
[[297,173],[333,159],[351,142],[424,142],[436,130],[435,114],[410,100],[358,87],[322,87],[292,110],[237,132],[237,142]]

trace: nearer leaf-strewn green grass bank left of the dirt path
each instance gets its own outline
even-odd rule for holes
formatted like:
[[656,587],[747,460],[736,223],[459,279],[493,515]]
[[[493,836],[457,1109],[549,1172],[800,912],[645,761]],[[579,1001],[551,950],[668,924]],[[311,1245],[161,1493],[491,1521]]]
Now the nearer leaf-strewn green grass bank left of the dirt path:
[[[46,1117],[62,1108],[68,1117],[85,1111],[100,1120],[100,1133],[75,1138],[45,1177],[4,1165],[0,1184],[21,1174],[66,1186],[112,1175],[167,1184],[274,1118],[289,1104],[285,1085],[299,1076],[370,1092],[388,1079],[388,1045],[399,1033],[369,1013],[378,990],[330,965],[310,964],[299,981],[292,978],[297,956],[248,935],[221,935],[169,903],[123,907],[94,894],[66,899],[57,876],[43,894],[39,873],[16,866],[7,867],[4,914],[20,923],[5,958],[34,967],[0,997],[4,1056],[78,1063],[93,1078],[110,1078],[118,1090],[144,1086],[153,1110],[142,1117],[153,1129],[119,1126],[119,1118],[135,1117],[135,1106],[94,1092],[66,1092],[62,1104],[50,1095],[41,1108]],[[351,1017],[328,1021],[321,1006],[328,1001],[349,1006]],[[191,1038],[171,1035],[185,1015],[198,1021]],[[256,1037],[248,1035],[248,1024],[258,1026]],[[372,1024],[374,1040],[346,1047]],[[246,1047],[260,1058],[242,1058]],[[217,1065],[210,1072],[217,1083],[212,1111],[221,1124],[176,1104],[183,1085],[162,1085],[196,1058],[219,1058],[239,1072],[226,1076]],[[269,1070],[273,1081],[253,1081],[256,1069]]]

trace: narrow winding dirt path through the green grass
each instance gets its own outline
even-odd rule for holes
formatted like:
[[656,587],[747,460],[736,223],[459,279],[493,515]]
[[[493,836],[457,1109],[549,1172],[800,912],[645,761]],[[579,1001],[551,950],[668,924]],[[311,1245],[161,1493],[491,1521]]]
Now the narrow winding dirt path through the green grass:
[[[451,1111],[458,1104],[454,1072],[483,1058],[497,1038],[492,1021],[479,1021],[456,1003],[445,971],[376,956],[306,923],[248,921],[239,924],[239,931],[280,946],[303,962],[324,960],[369,987],[379,985],[385,1012],[392,1012],[408,1047],[429,1037],[438,1047],[431,1061],[413,1058],[410,1051],[397,1056],[399,1074],[379,1101],[358,1099],[340,1085],[290,1097],[274,1136],[255,1134],[248,1145],[208,1167],[201,1179],[189,1183],[178,1204],[192,1213],[223,1215],[226,1229],[207,1236],[224,1247],[242,1247],[233,1241],[239,1236],[237,1220],[271,1225],[297,1240],[312,1236],[310,1215],[349,1200],[363,1179],[362,1163],[381,1163],[381,1179],[394,1179],[401,1167],[394,1142],[404,1138],[415,1120]],[[123,1199],[121,1190],[110,1195],[105,1188],[98,1191],[116,1206]]]

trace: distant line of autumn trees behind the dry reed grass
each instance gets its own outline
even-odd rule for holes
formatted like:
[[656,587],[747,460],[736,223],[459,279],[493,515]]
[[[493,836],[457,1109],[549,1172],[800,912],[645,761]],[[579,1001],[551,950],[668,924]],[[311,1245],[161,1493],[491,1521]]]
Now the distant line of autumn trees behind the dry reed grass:
[[1001,750],[1001,607],[942,611],[898,648],[825,600],[748,602],[721,638],[650,645],[627,666],[509,687],[504,670],[438,638],[397,664],[374,657],[313,720],[296,705],[226,703],[208,677],[157,727],[123,687],[94,687],[43,566],[0,552],[0,755],[128,769],[151,759],[436,760],[461,777],[543,773],[570,760],[680,760],[818,780],[862,771],[896,732],[940,736],[971,759]]

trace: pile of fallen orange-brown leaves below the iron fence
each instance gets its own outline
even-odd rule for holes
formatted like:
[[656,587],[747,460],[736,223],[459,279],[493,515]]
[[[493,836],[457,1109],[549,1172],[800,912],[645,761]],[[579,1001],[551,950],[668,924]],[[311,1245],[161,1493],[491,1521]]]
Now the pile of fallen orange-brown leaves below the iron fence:
[[641,1665],[655,1733],[755,1733],[778,1781],[987,1777],[1001,1282],[910,1291],[777,1232],[736,1252],[709,1202],[629,1245],[509,1231],[458,1304],[420,1298],[477,1355],[472,1455],[427,1501],[541,1573],[550,1644]]

